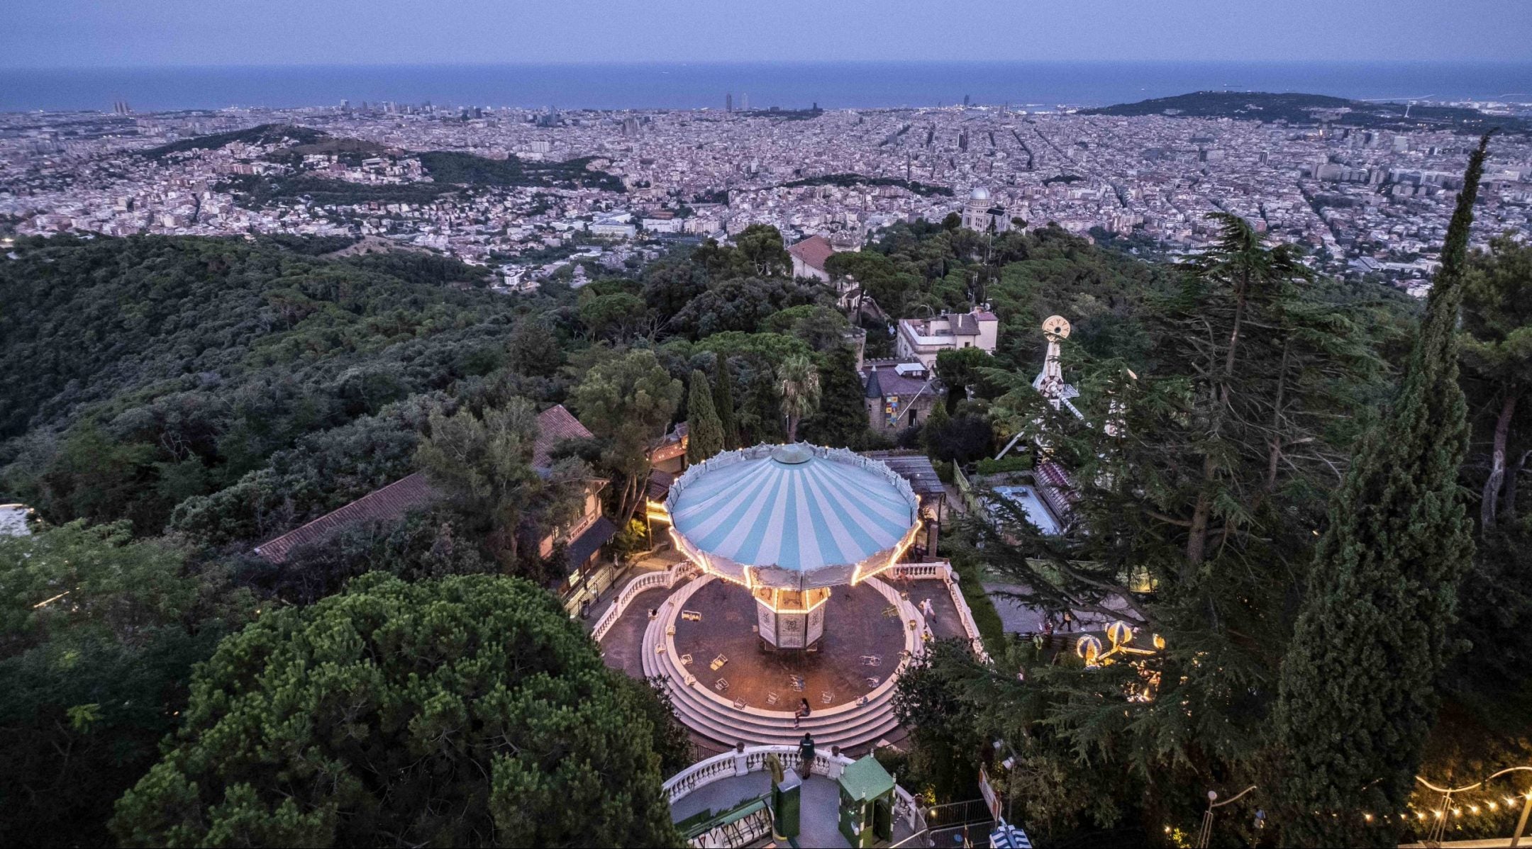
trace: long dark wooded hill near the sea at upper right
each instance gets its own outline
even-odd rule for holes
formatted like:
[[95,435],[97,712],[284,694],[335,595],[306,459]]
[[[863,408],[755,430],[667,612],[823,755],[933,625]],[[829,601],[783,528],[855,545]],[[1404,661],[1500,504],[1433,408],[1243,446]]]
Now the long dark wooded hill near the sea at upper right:
[[[1406,112],[1409,113],[1408,118],[1405,116]],[[1483,133],[1491,127],[1515,133],[1529,130],[1527,121],[1521,118],[1485,115],[1477,109],[1353,101],[1299,92],[1192,92],[1100,109],[1082,109],[1080,115],[1169,115],[1175,118],[1285,121],[1288,124],[1336,121],[1353,127],[1377,130],[1451,128],[1460,133]]]

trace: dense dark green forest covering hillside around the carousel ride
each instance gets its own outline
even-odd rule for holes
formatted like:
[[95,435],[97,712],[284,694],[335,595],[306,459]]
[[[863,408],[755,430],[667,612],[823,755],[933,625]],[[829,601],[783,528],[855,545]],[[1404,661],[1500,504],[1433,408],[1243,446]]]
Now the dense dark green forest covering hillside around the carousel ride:
[[[694,460],[797,436],[924,450],[948,479],[1074,470],[1068,534],[1000,502],[944,528],[993,662],[936,644],[901,679],[913,733],[885,757],[930,802],[985,766],[1039,844],[1181,846],[1209,789],[1255,785],[1216,844],[1423,837],[1411,776],[1532,754],[1532,248],[1468,251],[1466,196],[1426,304],[1233,216],[1181,265],[901,223],[827,262],[850,311],[763,225],[533,295],[322,240],[20,239],[0,502],[38,520],[0,538],[0,808],[26,812],[0,843],[674,844],[659,783],[686,731],[601,664],[527,540],[594,476],[613,545],[647,548],[627,520],[679,422]],[[947,404],[869,430],[846,343],[887,356],[879,311],[976,303],[994,356],[944,352]],[[1079,419],[1031,387],[1054,314]],[[533,468],[552,404],[594,436]],[[412,471],[444,497],[251,554]],[[1086,668],[1002,633],[984,578],[1164,649]]]

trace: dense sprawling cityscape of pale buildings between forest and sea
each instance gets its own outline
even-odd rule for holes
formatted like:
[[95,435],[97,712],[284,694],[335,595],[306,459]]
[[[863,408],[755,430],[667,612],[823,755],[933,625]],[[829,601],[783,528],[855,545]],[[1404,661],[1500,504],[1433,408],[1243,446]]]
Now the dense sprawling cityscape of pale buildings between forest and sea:
[[[20,234],[372,237],[493,265],[506,286],[529,288],[581,262],[631,266],[666,242],[726,240],[752,223],[855,249],[890,223],[939,220],[982,188],[1002,225],[1056,222],[1170,254],[1204,249],[1216,237],[1207,213],[1233,213],[1325,271],[1422,294],[1472,141],[1458,127],[1363,128],[1318,109],[1299,124],[1175,109],[749,112],[720,99],[689,112],[374,102],[135,115],[121,102],[113,113],[11,113],[0,116],[0,216]],[[1491,121],[1526,109],[1457,106]],[[276,128],[187,144],[262,125]],[[440,151],[515,173],[423,167],[421,153]],[[561,162],[573,170],[525,168]],[[262,181],[265,193],[250,191]],[[1529,181],[1532,142],[1504,136],[1475,243],[1527,228]]]

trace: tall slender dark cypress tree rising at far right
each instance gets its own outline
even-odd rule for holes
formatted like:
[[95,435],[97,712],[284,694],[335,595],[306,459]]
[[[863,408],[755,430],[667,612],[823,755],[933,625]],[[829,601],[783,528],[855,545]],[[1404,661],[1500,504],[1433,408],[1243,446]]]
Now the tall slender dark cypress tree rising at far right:
[[[1393,410],[1331,497],[1279,681],[1284,843],[1397,846],[1457,584],[1474,557],[1458,496],[1468,450],[1457,314],[1486,135],[1469,158],[1420,337]],[[1318,815],[1316,815],[1318,814]]]

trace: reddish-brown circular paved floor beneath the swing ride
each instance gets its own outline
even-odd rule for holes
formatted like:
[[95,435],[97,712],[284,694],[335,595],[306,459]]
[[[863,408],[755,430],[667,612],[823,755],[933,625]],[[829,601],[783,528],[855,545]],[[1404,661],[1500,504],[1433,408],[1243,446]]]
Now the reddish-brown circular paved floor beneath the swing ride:
[[[818,652],[771,652],[755,633],[749,590],[708,581],[685,609],[668,610],[676,661],[719,696],[760,710],[794,711],[798,699],[809,699],[815,711],[853,702],[899,667],[904,624],[893,604],[867,584],[836,587],[827,604]],[[725,662],[714,670],[720,656]]]

